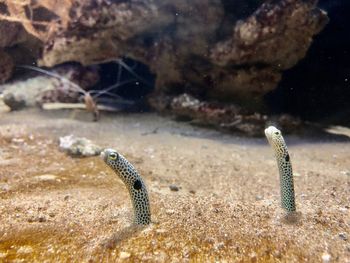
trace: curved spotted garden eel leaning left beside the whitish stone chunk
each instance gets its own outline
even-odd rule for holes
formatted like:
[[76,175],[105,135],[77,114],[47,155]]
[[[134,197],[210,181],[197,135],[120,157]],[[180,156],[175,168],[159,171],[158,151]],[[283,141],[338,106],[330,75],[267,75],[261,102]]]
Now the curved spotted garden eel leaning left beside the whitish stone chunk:
[[119,176],[129,190],[134,209],[134,222],[137,225],[151,223],[151,210],[146,185],[134,166],[113,149],[101,152],[105,163]]

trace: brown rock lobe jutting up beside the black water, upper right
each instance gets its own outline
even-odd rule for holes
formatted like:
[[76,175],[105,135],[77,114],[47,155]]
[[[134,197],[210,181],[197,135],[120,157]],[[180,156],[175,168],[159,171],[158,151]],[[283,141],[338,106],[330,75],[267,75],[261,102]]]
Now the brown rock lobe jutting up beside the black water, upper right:
[[272,66],[284,70],[305,56],[312,37],[328,22],[317,1],[267,1],[246,20],[238,21],[232,37],[211,50],[219,65]]

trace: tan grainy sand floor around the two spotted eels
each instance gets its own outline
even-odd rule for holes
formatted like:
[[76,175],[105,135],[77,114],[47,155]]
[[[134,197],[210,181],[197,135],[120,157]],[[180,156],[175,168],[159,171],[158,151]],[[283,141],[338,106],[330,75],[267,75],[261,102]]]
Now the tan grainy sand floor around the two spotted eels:
[[[69,134],[134,164],[150,226],[131,226],[126,188],[99,157],[59,151]],[[299,211],[290,223],[263,137],[151,113],[94,123],[83,112],[36,110],[0,113],[0,135],[1,262],[350,262],[347,137],[285,137]]]

